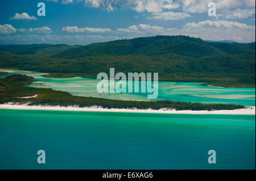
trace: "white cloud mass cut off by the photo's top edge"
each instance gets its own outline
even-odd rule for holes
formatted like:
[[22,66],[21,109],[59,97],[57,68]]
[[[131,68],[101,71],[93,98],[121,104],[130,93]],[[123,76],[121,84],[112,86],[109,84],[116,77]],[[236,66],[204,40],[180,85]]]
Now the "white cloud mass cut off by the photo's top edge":
[[163,9],[177,9],[181,7],[186,12],[207,12],[208,3],[215,2],[217,9],[232,10],[237,8],[253,8],[254,0],[85,0],[86,4],[92,7],[105,7],[112,5],[114,9],[130,7],[139,12],[159,12]]

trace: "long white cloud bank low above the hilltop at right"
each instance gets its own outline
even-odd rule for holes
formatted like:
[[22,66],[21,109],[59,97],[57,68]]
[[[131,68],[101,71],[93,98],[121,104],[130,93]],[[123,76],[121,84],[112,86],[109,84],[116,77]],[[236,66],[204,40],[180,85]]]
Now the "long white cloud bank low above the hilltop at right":
[[185,24],[182,28],[163,28],[150,26],[149,24],[139,24],[128,28],[118,28],[117,31],[131,33],[136,36],[155,35],[189,35],[200,37],[204,40],[234,40],[237,42],[255,41],[255,26],[245,23],[229,22],[225,20],[204,22],[192,22]]

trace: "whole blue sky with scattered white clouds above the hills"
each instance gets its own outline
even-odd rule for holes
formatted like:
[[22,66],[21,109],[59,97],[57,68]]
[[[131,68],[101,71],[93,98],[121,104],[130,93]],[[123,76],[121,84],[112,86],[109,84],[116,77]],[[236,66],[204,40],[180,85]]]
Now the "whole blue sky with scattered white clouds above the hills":
[[[40,2],[45,16],[38,15]],[[86,45],[155,35],[255,41],[254,0],[0,0],[0,15],[0,44]]]

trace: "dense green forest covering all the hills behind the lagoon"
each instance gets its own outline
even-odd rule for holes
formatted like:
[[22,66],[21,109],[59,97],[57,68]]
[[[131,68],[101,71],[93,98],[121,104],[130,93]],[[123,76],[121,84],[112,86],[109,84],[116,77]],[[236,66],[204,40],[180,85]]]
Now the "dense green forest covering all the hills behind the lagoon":
[[255,42],[209,42],[189,36],[138,37],[85,46],[0,45],[0,68],[96,78],[100,72],[158,72],[159,81],[255,87]]

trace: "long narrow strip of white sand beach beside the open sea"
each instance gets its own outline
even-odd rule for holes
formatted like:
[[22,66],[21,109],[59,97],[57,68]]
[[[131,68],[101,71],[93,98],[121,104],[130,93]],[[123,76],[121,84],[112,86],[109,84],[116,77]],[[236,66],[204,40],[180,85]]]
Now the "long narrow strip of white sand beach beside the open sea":
[[161,108],[160,110],[138,110],[138,109],[118,109],[102,108],[100,106],[77,107],[77,106],[28,106],[28,104],[0,104],[1,110],[46,110],[46,111],[84,111],[84,112],[134,112],[134,113],[171,113],[171,114],[193,114],[193,115],[255,115],[255,106],[247,106],[237,110],[213,110],[213,111],[192,111],[192,110],[170,110]]

